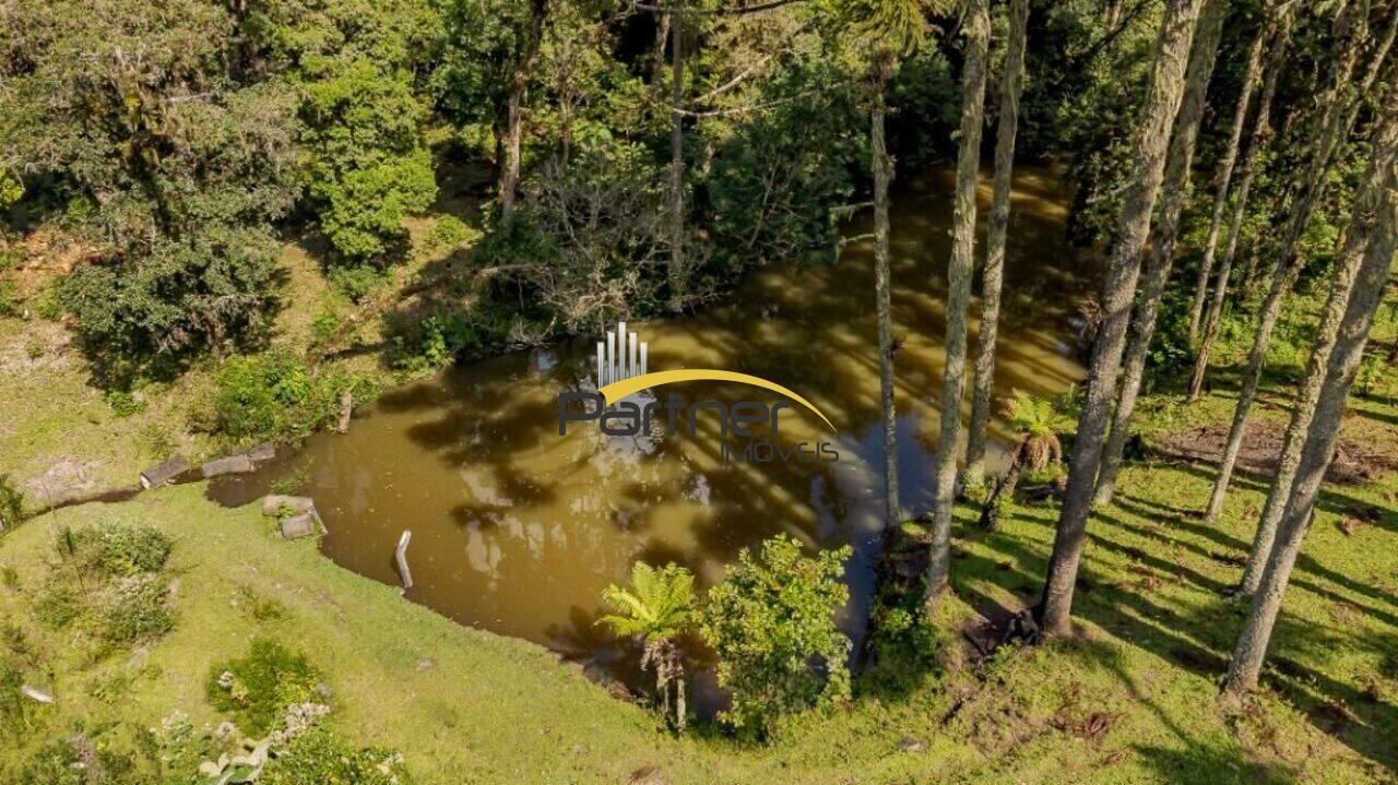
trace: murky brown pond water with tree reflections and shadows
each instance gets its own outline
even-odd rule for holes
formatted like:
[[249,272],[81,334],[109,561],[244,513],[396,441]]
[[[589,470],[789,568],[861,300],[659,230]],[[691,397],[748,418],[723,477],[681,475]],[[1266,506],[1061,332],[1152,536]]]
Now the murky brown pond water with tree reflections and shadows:
[[[892,212],[899,480],[913,514],[932,499],[951,190],[951,172],[930,172]],[[988,187],[981,197],[984,208]],[[1064,204],[1053,172],[1016,173],[997,395],[1061,392],[1083,373],[1074,316],[1089,275],[1062,240]],[[867,217],[856,223],[850,235],[868,230]],[[289,461],[218,482],[211,494],[246,503],[277,474],[305,472],[302,492],[329,528],[322,548],[340,564],[396,585],[394,545],[411,529],[408,598],[604,665],[618,651],[593,624],[598,595],[636,559],[678,562],[712,584],[738,549],[777,532],[812,546],[853,543],[846,624],[857,636],[881,518],[871,244],[846,247],[835,267],[763,271],[702,316],[630,327],[649,341],[651,372],[738,370],[807,397],[837,433],[794,408],[781,415],[779,443],[829,440],[840,460],[724,462],[714,418],[702,418],[693,437],[604,437],[590,423],[559,436],[558,394],[596,384],[589,337],[393,390],[356,412],[348,434],[315,436]],[[780,399],[731,383],[665,392]],[[998,425],[997,434],[1007,436]]]

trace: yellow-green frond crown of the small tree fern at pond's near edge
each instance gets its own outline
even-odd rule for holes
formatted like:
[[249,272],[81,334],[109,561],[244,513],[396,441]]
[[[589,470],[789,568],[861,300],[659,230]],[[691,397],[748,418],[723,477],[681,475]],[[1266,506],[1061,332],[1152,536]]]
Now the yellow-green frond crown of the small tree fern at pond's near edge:
[[617,584],[603,589],[612,613],[597,620],[619,637],[642,636],[646,643],[681,634],[693,615],[695,577],[679,564],[661,568],[644,562],[630,566],[630,588]]

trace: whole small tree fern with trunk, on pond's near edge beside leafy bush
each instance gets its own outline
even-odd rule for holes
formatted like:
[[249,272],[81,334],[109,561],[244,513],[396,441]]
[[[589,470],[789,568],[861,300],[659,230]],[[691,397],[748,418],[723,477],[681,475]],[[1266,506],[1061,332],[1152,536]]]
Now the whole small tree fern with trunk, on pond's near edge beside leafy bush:
[[607,587],[603,603],[612,613],[597,623],[611,627],[618,637],[640,638],[640,668],[656,670],[660,710],[675,732],[684,733],[685,670],[677,638],[693,620],[693,573],[674,563],[656,568],[636,562],[630,567],[630,588]]

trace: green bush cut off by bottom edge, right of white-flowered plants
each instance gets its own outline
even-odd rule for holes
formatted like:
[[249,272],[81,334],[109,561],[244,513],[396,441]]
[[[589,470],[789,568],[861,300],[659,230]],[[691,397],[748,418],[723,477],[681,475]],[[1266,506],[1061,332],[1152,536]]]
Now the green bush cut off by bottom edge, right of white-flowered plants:
[[285,751],[263,770],[261,785],[408,785],[403,756],[377,749],[356,750],[330,731],[313,726],[296,736]]

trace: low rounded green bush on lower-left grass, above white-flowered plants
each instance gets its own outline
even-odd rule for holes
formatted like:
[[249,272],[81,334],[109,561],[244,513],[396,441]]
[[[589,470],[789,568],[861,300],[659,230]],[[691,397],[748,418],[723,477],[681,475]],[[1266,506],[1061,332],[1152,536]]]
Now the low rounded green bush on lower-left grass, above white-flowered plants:
[[257,638],[246,656],[210,670],[204,691],[214,708],[233,715],[243,733],[261,736],[287,707],[306,703],[319,680],[320,673],[301,652]]

